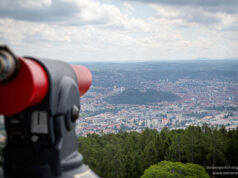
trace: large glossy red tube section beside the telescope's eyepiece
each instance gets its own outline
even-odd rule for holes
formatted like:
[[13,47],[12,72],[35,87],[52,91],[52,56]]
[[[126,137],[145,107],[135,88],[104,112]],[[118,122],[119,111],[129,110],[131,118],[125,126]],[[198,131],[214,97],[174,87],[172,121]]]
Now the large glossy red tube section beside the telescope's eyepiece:
[[0,114],[11,116],[39,103],[47,94],[49,81],[44,68],[37,62],[19,57],[18,75],[0,84]]

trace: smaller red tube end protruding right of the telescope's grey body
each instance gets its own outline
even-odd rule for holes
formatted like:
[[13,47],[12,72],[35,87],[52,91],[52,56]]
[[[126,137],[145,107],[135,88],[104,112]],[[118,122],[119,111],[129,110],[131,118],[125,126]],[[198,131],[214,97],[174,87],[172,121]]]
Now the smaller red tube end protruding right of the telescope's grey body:
[[72,65],[72,68],[74,69],[78,78],[78,87],[81,97],[88,91],[92,84],[92,73],[87,67],[81,65]]

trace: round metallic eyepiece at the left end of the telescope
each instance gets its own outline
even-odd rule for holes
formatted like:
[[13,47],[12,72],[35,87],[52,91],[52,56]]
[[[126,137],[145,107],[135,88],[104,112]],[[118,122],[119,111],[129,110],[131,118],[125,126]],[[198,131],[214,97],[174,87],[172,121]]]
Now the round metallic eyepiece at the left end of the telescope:
[[0,82],[12,78],[18,69],[18,60],[7,46],[0,46]]

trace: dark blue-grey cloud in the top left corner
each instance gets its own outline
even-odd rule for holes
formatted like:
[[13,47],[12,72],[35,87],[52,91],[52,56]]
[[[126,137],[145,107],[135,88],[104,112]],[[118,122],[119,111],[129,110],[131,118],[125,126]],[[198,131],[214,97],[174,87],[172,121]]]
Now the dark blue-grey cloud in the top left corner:
[[0,2],[0,17],[25,21],[60,21],[80,12],[73,2],[63,0],[6,0]]

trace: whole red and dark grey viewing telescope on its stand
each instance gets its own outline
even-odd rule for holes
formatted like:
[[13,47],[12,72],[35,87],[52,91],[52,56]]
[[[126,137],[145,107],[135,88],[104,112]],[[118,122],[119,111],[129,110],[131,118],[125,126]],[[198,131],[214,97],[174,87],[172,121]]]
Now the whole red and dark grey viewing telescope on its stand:
[[83,164],[75,134],[80,97],[91,82],[86,67],[17,57],[0,46],[5,178],[97,177]]

